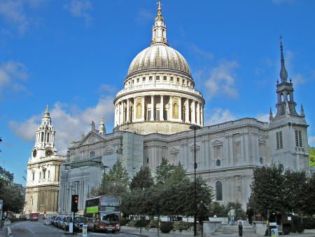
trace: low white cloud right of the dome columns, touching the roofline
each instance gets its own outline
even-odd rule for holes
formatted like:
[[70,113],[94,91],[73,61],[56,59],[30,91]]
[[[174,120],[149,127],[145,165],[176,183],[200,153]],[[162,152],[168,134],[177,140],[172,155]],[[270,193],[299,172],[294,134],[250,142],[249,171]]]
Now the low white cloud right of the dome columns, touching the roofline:
[[229,109],[215,108],[211,111],[205,111],[204,126],[210,126],[218,123],[225,123],[233,121],[236,117],[231,113]]

